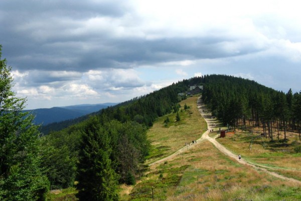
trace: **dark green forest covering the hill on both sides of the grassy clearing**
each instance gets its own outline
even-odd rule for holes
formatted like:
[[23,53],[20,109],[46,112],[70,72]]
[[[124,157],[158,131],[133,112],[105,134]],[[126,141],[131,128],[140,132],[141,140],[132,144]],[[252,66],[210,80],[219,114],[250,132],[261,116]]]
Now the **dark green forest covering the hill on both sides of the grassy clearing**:
[[[91,184],[94,180],[101,180],[94,178],[97,175],[93,172],[103,171],[109,172],[107,176],[113,183],[134,183],[143,171],[143,162],[149,151],[147,128],[158,117],[177,113],[181,107],[180,100],[186,98],[186,95],[180,96],[179,93],[190,92],[191,85],[203,85],[204,102],[218,118],[234,128],[239,120],[245,122],[251,119],[254,123],[266,121],[263,123],[267,125],[272,117],[278,117],[284,125],[300,125],[301,118],[297,116],[301,108],[297,105],[301,103],[300,93],[288,91],[285,94],[255,81],[227,75],[193,77],[103,109],[89,119],[87,117],[45,136],[43,166],[48,171],[46,174],[51,185],[65,188],[73,186],[74,180],[77,180],[83,184],[77,186],[78,196],[85,196],[81,195],[88,193],[85,189],[99,186],[98,183]],[[94,154],[100,161],[92,157]],[[104,164],[108,169],[97,164]],[[75,178],[75,175],[78,177]]]

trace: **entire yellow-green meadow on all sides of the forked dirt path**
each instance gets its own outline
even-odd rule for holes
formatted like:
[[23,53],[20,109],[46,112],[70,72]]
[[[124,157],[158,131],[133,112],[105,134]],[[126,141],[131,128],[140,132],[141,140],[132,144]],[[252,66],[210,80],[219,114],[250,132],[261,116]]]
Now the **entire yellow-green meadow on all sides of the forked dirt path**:
[[[146,164],[173,154],[185,147],[186,142],[200,139],[207,130],[207,123],[197,108],[197,98],[198,96],[189,97],[180,103],[180,121],[176,122],[175,113],[169,114],[159,118],[148,130],[152,150]],[[188,106],[187,110],[184,110],[185,104]],[[164,123],[167,117],[170,121]],[[260,128],[254,129],[253,134],[236,131],[234,136],[218,138],[217,141],[233,153],[240,153],[248,162],[301,180],[300,154],[294,153],[296,134],[287,133],[286,143],[281,140],[270,142],[263,138],[264,146],[261,138],[254,139],[251,149],[248,149],[257,132],[260,132]],[[211,137],[216,135],[216,131],[209,134]],[[281,133],[279,137],[283,137]],[[221,153],[211,142],[199,140],[197,144],[189,146],[187,150],[183,149],[168,160],[149,165],[135,185],[121,185],[119,198],[122,201],[301,200],[300,190],[298,183],[240,164]],[[63,193],[65,195],[60,196]],[[75,200],[74,193],[74,188],[65,189],[58,195],[52,194],[50,200]]]

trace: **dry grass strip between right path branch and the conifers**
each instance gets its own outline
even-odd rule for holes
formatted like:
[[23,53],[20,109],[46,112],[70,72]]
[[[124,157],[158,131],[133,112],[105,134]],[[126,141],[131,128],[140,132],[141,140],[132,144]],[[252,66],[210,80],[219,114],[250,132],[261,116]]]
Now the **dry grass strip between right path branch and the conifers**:
[[[253,162],[258,165],[264,165],[273,168],[273,171],[278,172],[284,176],[293,177],[301,180],[301,167],[300,159],[301,153],[294,153],[294,145],[292,142],[295,141],[296,134],[287,134],[287,143],[270,142],[270,139],[262,138],[266,147],[262,146],[261,139],[253,140],[252,148],[249,150],[248,147],[251,142],[252,136],[247,132],[237,132],[240,137],[235,140],[229,138],[217,139],[227,149],[233,153],[241,154],[246,160]],[[283,134],[280,135],[280,139]],[[274,136],[275,139],[275,136]]]

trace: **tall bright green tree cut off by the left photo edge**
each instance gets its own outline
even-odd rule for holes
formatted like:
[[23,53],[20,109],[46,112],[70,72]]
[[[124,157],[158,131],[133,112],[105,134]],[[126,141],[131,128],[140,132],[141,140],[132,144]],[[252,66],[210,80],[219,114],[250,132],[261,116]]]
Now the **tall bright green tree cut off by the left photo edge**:
[[0,45],[0,200],[45,200],[49,181],[40,167],[40,140],[26,99],[12,91],[13,77]]

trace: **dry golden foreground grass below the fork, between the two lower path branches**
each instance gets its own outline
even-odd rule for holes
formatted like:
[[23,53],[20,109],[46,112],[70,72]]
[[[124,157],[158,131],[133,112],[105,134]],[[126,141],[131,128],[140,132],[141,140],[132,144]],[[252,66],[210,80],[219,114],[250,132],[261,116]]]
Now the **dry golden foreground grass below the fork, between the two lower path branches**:
[[[179,182],[166,187],[164,182],[172,176],[173,169],[185,166],[187,168],[180,174]],[[208,141],[188,150],[184,154],[184,160],[179,155],[152,170],[146,175],[147,179],[135,187],[135,195],[139,188],[148,185],[149,180],[152,180],[152,186],[156,186],[155,200],[268,200],[273,198],[275,190],[280,190],[283,186],[298,189],[291,182],[258,172],[225,157]],[[160,173],[163,173],[165,179],[159,178]],[[151,186],[148,188],[150,191]],[[147,198],[150,198],[150,194],[145,199],[139,196],[132,198],[149,200]]]

